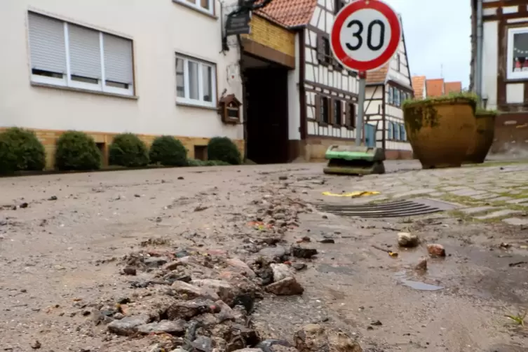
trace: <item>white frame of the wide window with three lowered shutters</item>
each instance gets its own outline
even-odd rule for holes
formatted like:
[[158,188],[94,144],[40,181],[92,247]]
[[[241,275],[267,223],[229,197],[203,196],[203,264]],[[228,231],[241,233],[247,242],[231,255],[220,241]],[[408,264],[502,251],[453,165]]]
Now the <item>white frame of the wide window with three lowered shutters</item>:
[[[49,16],[46,16],[53,20],[58,20],[57,18],[51,18]],[[69,53],[69,22],[65,22],[60,20],[64,24],[64,35],[65,35],[65,52],[66,52],[66,74],[62,75],[61,78],[55,78],[55,77],[48,77],[48,76],[42,76],[39,74],[33,74],[31,72],[31,81],[34,83],[43,83],[48,84],[50,86],[62,86],[62,87],[68,87],[68,88],[76,88],[76,89],[83,89],[83,90],[93,90],[95,92],[104,92],[104,93],[111,93],[111,94],[118,94],[118,95],[134,95],[134,86],[135,86],[135,77],[133,76],[133,83],[130,83],[128,86],[128,89],[126,88],[117,88],[112,86],[107,86],[106,84],[106,77],[104,73],[104,32],[98,31],[97,29],[93,29],[98,32],[99,34],[99,48],[100,48],[100,56],[101,56],[101,79],[98,81],[97,84],[95,83],[87,83],[87,82],[80,82],[72,80],[72,71],[70,68],[70,53]],[[72,25],[74,25],[72,23]],[[80,26],[84,27],[84,26]],[[91,28],[90,28],[91,29]],[[111,34],[114,35],[114,34]],[[120,37],[123,38],[123,37]],[[123,38],[126,40],[130,40],[128,38]],[[29,46],[31,47],[31,42],[29,43]],[[132,54],[132,58],[134,54]],[[29,62],[31,62],[31,53],[29,53]],[[29,65],[29,69],[32,69],[32,65]]]

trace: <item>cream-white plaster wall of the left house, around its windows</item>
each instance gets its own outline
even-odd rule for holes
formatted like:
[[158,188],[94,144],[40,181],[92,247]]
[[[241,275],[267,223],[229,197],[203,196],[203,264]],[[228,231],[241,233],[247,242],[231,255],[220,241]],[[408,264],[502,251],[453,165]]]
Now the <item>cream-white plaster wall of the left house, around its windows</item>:
[[[215,1],[219,15],[219,2]],[[138,100],[74,93],[29,84],[27,11],[32,8],[134,41]],[[221,54],[221,21],[165,1],[2,0],[0,5],[0,126],[243,138],[213,109],[175,103],[175,52],[217,65],[218,95],[242,97],[240,79],[227,80],[238,50]],[[6,35],[8,34],[8,35]]]

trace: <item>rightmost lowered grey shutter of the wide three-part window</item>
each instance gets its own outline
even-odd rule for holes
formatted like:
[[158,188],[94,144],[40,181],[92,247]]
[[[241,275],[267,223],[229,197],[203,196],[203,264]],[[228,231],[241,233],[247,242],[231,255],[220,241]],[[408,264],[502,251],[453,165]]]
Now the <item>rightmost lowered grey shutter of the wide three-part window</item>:
[[132,41],[104,34],[104,76],[107,81],[134,82]]

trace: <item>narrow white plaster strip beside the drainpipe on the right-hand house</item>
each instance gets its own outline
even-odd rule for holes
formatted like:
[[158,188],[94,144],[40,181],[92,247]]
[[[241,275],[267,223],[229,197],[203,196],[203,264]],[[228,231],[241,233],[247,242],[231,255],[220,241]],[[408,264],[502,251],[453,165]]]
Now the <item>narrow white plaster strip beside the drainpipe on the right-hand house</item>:
[[482,96],[487,97],[487,108],[497,109],[497,72],[499,22],[484,22],[482,46]]

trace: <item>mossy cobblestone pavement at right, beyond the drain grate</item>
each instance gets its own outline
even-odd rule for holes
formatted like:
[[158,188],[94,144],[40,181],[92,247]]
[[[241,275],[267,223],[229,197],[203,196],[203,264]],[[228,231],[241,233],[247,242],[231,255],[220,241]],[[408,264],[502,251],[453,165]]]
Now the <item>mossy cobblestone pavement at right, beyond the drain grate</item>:
[[[379,191],[353,203],[427,197],[454,203],[466,220],[528,226],[528,163],[491,162],[463,168],[412,170],[416,161],[386,162],[388,173],[354,180],[346,191]],[[330,180],[325,190],[339,184]],[[350,202],[347,200],[347,202]]]

